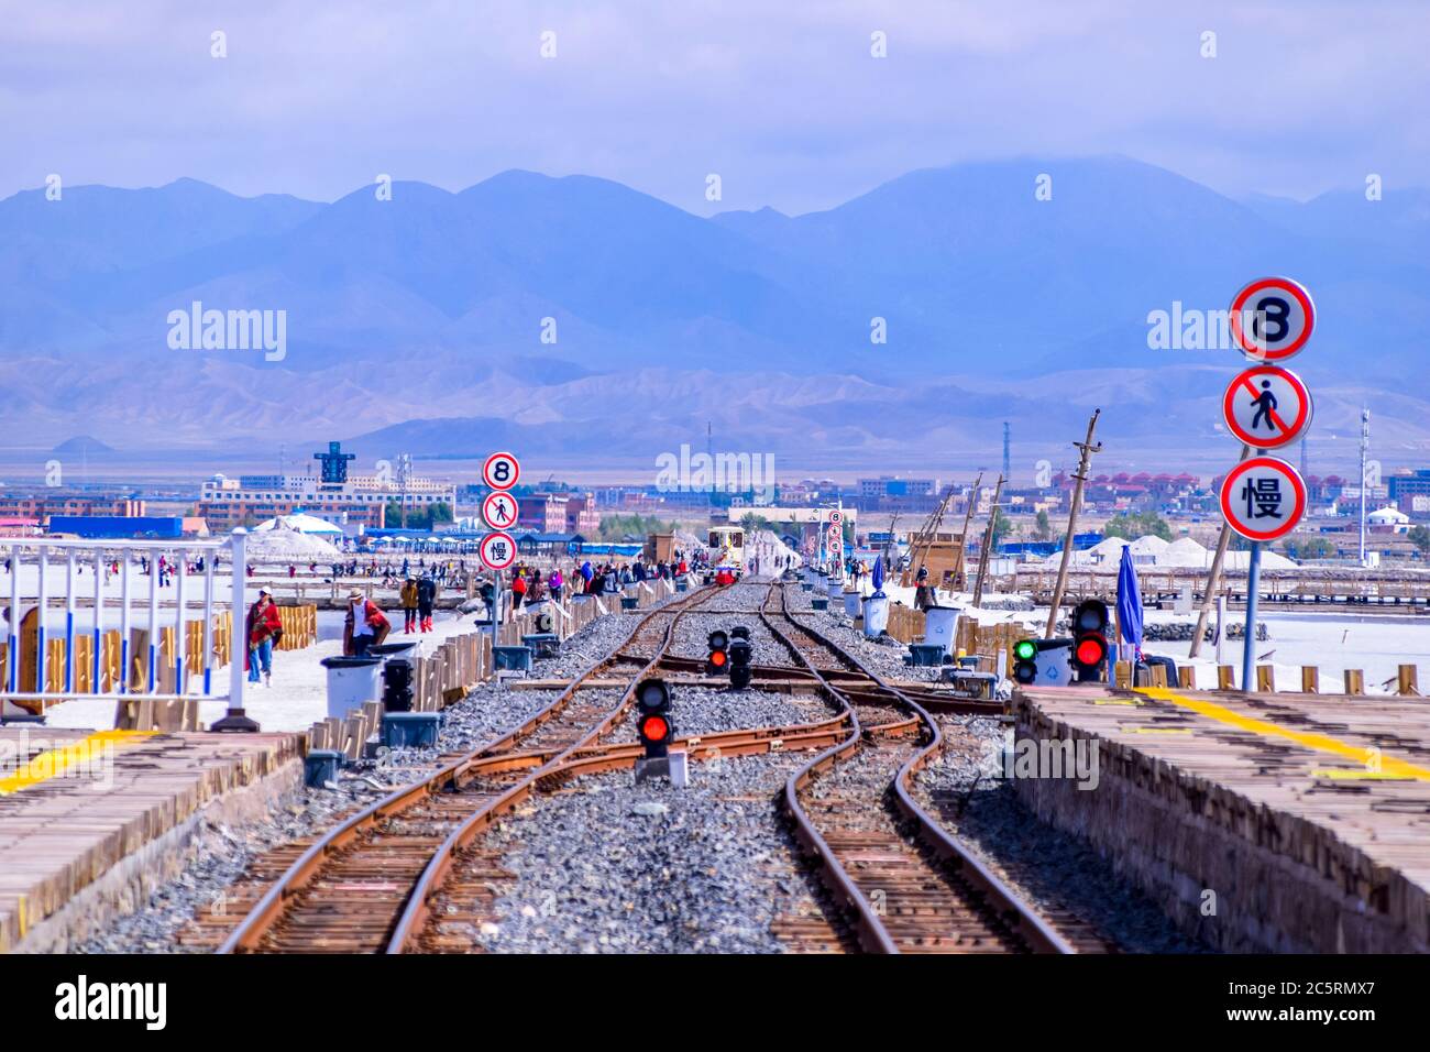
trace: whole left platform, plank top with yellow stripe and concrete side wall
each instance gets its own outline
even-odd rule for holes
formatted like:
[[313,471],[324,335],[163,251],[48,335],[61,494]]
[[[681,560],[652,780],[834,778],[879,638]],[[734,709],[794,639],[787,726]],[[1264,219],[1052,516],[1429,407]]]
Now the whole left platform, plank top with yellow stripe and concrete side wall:
[[204,819],[302,781],[297,734],[0,727],[0,950],[64,950],[182,869]]

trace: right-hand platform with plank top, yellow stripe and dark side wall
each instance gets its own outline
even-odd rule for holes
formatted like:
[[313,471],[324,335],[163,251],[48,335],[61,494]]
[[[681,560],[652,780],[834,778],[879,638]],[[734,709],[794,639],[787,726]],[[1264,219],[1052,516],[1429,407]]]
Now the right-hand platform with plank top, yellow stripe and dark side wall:
[[1430,952],[1430,700],[1061,688],[1018,691],[1012,711],[1020,741],[1097,749],[1095,787],[1044,767],[1018,796],[1190,935]]

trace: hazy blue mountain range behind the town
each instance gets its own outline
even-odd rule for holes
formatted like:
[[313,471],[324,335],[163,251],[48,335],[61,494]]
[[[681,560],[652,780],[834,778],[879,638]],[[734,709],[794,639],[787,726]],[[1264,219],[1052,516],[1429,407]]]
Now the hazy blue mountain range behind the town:
[[[722,449],[874,471],[997,462],[1010,421],[1031,471],[1100,406],[1108,464],[1198,467],[1234,457],[1217,404],[1241,359],[1153,349],[1148,315],[1224,311],[1286,273],[1317,305],[1293,364],[1317,396],[1311,448],[1350,457],[1370,404],[1387,467],[1430,451],[1421,189],[1233,200],[1101,156],[925,169],[801,216],[701,218],[519,170],[378,190],[317,203],[180,179],[0,202],[10,444],[342,438],[651,465],[704,448],[709,424]],[[280,359],[173,346],[170,312],[196,302],[285,312]]]

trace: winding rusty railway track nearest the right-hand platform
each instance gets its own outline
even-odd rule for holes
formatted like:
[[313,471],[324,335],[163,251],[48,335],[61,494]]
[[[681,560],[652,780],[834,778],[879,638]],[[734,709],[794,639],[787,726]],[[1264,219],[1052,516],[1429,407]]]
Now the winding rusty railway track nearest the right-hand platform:
[[[1091,936],[1074,942],[1050,926],[914,799],[914,774],[942,747],[938,721],[797,621],[784,587],[771,590],[765,607],[769,630],[851,711],[844,740],[789,776],[784,806],[849,910],[859,945],[878,953],[1103,949]],[[878,800],[868,799],[871,784],[884,787]]]

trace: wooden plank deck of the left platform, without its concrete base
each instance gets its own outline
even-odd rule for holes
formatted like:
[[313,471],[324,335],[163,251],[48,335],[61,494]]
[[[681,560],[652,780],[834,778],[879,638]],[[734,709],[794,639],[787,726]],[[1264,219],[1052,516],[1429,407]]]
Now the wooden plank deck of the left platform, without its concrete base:
[[[109,731],[110,736],[114,731]],[[0,952],[209,802],[299,756],[297,734],[0,729]]]

